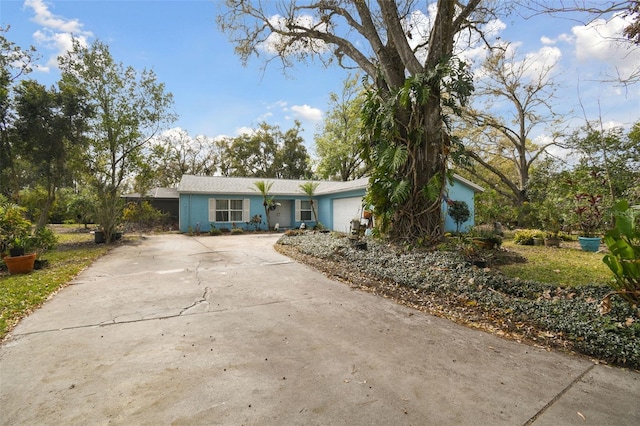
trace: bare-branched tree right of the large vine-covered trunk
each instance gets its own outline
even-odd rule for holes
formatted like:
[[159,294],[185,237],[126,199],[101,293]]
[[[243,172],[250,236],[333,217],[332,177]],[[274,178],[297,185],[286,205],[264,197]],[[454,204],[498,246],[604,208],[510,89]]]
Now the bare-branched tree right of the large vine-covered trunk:
[[[541,65],[518,55],[510,45],[495,49],[477,72],[474,101],[462,114],[464,126],[458,134],[471,161],[461,166],[496,188],[514,207],[529,201],[531,169],[557,142],[554,66],[553,57]],[[554,137],[536,145],[531,133],[542,126]],[[489,173],[479,173],[477,167]]]

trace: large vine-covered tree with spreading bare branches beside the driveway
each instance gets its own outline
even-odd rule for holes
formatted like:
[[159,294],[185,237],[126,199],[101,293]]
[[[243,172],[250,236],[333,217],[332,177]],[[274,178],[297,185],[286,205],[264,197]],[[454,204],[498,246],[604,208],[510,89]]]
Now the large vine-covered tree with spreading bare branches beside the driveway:
[[[389,191],[393,201],[373,196],[397,242],[432,242],[443,235],[441,200],[451,138],[446,110],[470,91],[461,63],[453,60],[456,37],[479,29],[489,18],[480,0],[441,0],[428,17],[413,1],[320,1],[253,3],[226,1],[218,18],[243,62],[252,55],[279,59],[284,67],[308,57],[325,64],[357,66],[371,84],[367,161],[374,168],[370,188]],[[420,25],[428,21],[429,25]],[[384,131],[384,132],[383,132]],[[391,176],[375,173],[389,150]]]

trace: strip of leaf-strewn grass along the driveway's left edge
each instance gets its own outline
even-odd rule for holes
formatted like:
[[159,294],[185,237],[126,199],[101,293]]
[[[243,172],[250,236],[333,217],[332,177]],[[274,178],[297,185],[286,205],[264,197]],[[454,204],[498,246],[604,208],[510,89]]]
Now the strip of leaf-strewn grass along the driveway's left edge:
[[25,275],[0,277],[0,340],[22,318],[66,286],[78,273],[109,250],[93,242],[93,234],[58,234],[55,250],[45,253],[48,265]]

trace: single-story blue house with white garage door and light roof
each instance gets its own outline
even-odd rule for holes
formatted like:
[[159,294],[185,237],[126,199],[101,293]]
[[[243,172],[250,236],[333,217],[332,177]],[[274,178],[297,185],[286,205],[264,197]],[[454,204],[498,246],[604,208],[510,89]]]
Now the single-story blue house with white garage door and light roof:
[[[269,197],[273,204],[269,209],[269,222],[273,228],[299,228],[303,223],[312,228],[314,221],[309,197],[300,189],[308,182],[302,180],[262,179],[225,176],[184,175],[178,184],[180,200],[180,231],[200,230],[207,232],[212,224],[217,228],[233,226],[244,229],[266,229],[264,199],[255,182],[272,183]],[[346,182],[314,181],[318,186],[314,192],[314,207],[318,221],[333,231],[349,232],[351,221],[363,217],[363,197],[369,178]],[[483,188],[461,176],[454,175],[453,185],[448,188],[448,198],[465,201],[471,216],[461,229],[474,224],[473,200],[476,192]],[[443,202],[443,208],[446,208]],[[456,225],[446,214],[445,230],[455,231]],[[258,221],[260,222],[258,223]]]

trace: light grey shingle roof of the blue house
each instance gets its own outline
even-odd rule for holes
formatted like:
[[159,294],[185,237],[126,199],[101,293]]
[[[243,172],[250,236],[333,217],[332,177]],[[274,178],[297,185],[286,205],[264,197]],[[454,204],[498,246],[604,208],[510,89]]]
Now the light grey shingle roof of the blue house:
[[[482,192],[484,189],[475,183],[454,175],[454,179],[470,187],[475,192]],[[194,176],[184,175],[178,184],[177,192],[181,194],[238,194],[255,195],[257,189],[254,182],[272,182],[269,193],[273,195],[300,195],[300,185],[305,182],[316,182],[318,187],[316,195],[335,194],[358,189],[366,189],[369,183],[368,177],[350,181],[328,181],[328,180],[292,180],[292,179],[271,179],[271,178],[246,178],[227,176]]]

